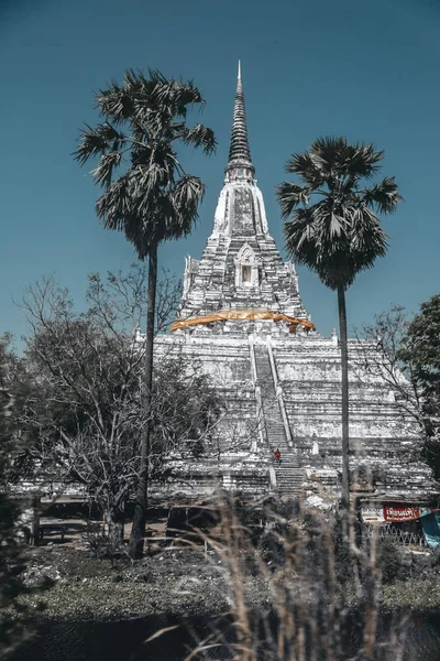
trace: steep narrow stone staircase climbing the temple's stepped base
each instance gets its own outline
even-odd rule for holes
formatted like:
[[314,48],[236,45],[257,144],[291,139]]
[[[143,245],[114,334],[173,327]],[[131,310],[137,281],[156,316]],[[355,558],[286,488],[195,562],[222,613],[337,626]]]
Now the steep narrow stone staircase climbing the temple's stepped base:
[[[276,483],[282,496],[294,496],[301,491],[304,470],[299,467],[298,459],[293,448],[289,447],[279,411],[274,377],[272,373],[268,350],[265,345],[255,345],[255,367],[258,384],[262,392],[262,408],[264,424],[267,433],[272,462],[276,473]],[[279,448],[282,460],[274,458],[273,453]]]

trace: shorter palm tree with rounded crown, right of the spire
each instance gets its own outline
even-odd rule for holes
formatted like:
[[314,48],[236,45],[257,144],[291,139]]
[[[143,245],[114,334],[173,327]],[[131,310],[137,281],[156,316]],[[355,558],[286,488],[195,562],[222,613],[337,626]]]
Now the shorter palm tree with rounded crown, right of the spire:
[[380,170],[383,151],[373,144],[349,144],[345,138],[319,138],[304,154],[293,154],[286,172],[301,185],[277,186],[289,254],[338,292],[342,369],[342,511],[350,501],[349,356],[345,291],[364,269],[387,250],[387,236],[376,214],[389,214],[400,195],[392,178],[363,187]]

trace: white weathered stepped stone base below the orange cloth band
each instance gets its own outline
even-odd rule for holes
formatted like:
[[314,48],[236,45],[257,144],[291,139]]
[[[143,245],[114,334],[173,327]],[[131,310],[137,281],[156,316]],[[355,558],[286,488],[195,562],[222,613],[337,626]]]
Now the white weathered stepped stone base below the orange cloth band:
[[[240,322],[237,322],[240,324]],[[273,322],[266,328],[273,334],[256,333],[254,346],[267,347],[270,342],[277,376],[278,391],[292,434],[292,456],[304,469],[305,477],[323,488],[340,488],[341,473],[341,370],[340,349],[333,336],[323,339],[317,334],[285,335]],[[260,489],[258,479],[270,484],[273,464],[271,437],[258,435],[257,401],[252,377],[249,335],[242,332],[220,335],[190,332],[158,338],[157,354],[176,353],[188,365],[197,362],[198,369],[209,375],[226,402],[226,414],[217,429],[216,447],[206,448],[198,465],[176,464],[176,474],[207,488],[207,476],[216,475],[220,484],[223,476],[233,488]],[[362,369],[364,350],[350,340],[350,446],[351,467],[362,466],[375,484],[375,492],[405,498],[409,494],[424,495],[435,489],[429,468],[420,460],[420,440],[413,416],[396,402],[393,391],[377,377]],[[260,383],[264,398],[265,384]],[[263,402],[264,403],[264,402]],[[266,421],[267,422],[267,421]],[[271,425],[267,425],[271,429]],[[217,458],[213,460],[212,452]],[[290,452],[290,451],[286,451]],[[210,455],[211,453],[211,455]],[[231,468],[231,456],[235,453]],[[288,456],[284,456],[289,460]],[[205,477],[200,477],[200,475]],[[246,477],[248,476],[248,477]],[[184,479],[184,483],[185,483]],[[201,479],[201,483],[200,483]],[[228,481],[229,479],[229,481]],[[205,480],[205,481],[204,481]],[[307,481],[307,480],[306,480]],[[262,484],[263,484],[262,483]],[[231,486],[231,488],[232,488]],[[182,487],[182,485],[180,485]],[[266,487],[265,487],[266,488]]]

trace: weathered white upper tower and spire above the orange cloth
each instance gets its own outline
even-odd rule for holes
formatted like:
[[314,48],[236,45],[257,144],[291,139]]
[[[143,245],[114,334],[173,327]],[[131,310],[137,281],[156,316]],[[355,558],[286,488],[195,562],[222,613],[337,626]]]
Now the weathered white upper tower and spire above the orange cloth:
[[[186,260],[179,319],[248,306],[308,318],[298,294],[295,267],[283,262],[268,232],[254,172],[239,78],[224,185],[201,259]],[[222,329],[219,326],[215,332]]]

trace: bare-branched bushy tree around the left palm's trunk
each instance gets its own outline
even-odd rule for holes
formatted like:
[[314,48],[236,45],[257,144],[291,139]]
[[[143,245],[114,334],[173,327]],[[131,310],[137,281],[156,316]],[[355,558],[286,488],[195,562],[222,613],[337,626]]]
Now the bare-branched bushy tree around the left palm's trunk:
[[[107,281],[91,275],[84,313],[51,279],[31,288],[23,302],[32,333],[24,359],[26,400],[16,424],[30,443],[14,457],[15,479],[26,476],[59,492],[76,485],[103,512],[112,548],[140,479],[145,348],[128,327],[140,318],[145,277],[140,268],[128,275],[109,273]],[[160,291],[166,293],[166,285]],[[189,455],[200,453],[220,412],[221,402],[197,365],[157,359],[148,478],[164,477],[165,459],[184,442]]]

